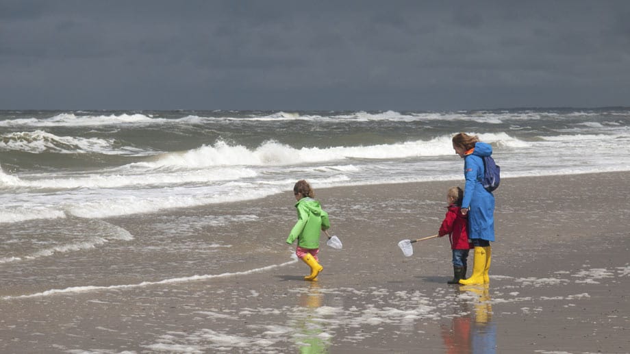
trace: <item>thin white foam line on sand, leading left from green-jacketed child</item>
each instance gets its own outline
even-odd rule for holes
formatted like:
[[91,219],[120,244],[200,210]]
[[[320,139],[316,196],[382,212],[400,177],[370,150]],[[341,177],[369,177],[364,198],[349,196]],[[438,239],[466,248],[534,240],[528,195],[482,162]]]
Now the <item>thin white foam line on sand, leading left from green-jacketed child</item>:
[[269,270],[273,268],[279,268],[283,266],[288,266],[289,264],[297,263],[297,257],[292,257],[293,259],[289,262],[284,262],[281,264],[272,264],[270,266],[262,267],[262,268],[254,268],[250,270],[243,270],[242,272],[235,273],[221,273],[221,274],[207,274],[207,275],[192,275],[192,277],[181,277],[181,278],[172,278],[172,279],[164,279],[160,281],[142,281],[142,283],[138,284],[121,284],[121,285],[113,285],[113,286],[73,286],[71,288],[65,289],[51,289],[46,290],[44,292],[36,292],[35,294],[27,294],[27,295],[19,295],[19,296],[2,296],[3,300],[12,300],[12,299],[28,299],[31,297],[39,297],[39,296],[50,296],[55,294],[67,294],[67,293],[79,293],[79,292],[91,292],[97,290],[117,290],[117,289],[131,289],[131,288],[142,288],[144,286],[153,286],[153,285],[162,285],[162,284],[173,284],[173,283],[184,283],[186,281],[197,281],[197,280],[205,280],[205,279],[214,279],[214,278],[225,278],[225,277],[235,277],[238,275],[246,275],[251,273],[258,273],[264,270]]

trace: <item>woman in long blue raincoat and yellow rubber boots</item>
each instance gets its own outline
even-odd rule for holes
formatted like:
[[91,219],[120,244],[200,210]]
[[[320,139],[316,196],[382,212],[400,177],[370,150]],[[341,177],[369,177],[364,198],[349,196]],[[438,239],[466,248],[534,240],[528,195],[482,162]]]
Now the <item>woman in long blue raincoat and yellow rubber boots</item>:
[[481,185],[483,158],[492,155],[492,147],[477,136],[459,133],[453,136],[453,149],[464,159],[464,199],[462,214],[468,215],[468,238],[475,246],[472,275],[461,279],[464,285],[489,283],[490,241],[494,241],[494,196]]

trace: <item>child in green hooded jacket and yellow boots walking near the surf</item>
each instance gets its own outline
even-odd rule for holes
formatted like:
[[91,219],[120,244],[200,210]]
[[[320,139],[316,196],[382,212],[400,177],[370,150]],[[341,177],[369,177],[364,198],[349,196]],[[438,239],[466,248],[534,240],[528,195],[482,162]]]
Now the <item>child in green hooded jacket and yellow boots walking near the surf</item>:
[[307,181],[301,179],[293,186],[297,209],[297,223],[291,229],[286,243],[292,244],[297,238],[295,254],[311,267],[311,274],[304,280],[316,281],[317,275],[324,269],[318,263],[320,230],[330,228],[328,213],[322,210],[318,201],[313,199],[315,192]]

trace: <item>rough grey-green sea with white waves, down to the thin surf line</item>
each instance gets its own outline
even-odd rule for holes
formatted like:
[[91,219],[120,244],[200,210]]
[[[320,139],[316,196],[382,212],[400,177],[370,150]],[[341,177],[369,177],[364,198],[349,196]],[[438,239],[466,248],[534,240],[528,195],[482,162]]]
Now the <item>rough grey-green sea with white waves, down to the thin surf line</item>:
[[[492,144],[503,178],[630,170],[627,108],[2,111],[0,295],[256,269],[242,257],[248,244],[275,246],[234,230],[279,222],[263,219],[265,197],[298,179],[316,189],[461,181],[459,131]],[[260,267],[295,262],[282,257]]]

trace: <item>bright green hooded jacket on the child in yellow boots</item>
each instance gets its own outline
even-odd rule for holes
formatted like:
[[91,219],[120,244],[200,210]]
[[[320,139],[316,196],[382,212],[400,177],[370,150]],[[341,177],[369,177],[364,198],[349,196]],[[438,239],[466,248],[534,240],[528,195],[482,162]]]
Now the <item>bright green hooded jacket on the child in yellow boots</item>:
[[318,249],[321,230],[330,229],[328,213],[322,210],[315,199],[305,197],[295,203],[297,209],[297,223],[291,229],[286,243],[292,244],[298,239],[297,245],[304,249]]

